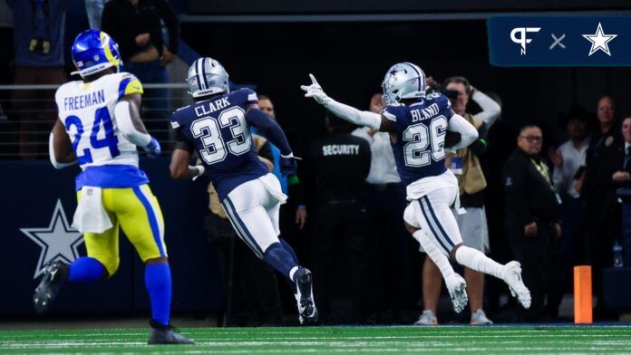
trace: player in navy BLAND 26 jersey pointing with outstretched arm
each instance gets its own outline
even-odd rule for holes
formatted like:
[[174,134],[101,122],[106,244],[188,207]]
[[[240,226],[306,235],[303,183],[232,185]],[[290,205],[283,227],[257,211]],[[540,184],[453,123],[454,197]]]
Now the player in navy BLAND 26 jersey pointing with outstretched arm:
[[396,168],[407,187],[410,204],[403,219],[407,229],[441,270],[455,312],[467,303],[466,283],[453,272],[447,257],[481,273],[508,283],[510,292],[529,308],[530,292],[521,281],[518,262],[502,265],[462,244],[451,206],[460,208],[458,181],[444,165],[447,131],[457,132],[460,141],[451,149],[467,147],[478,138],[475,128],[451,110],[450,101],[440,93],[425,94],[425,74],[410,62],[394,64],[383,79],[387,106],[381,114],[361,111],[328,97],[311,77],[303,85],[312,97],[335,115],[360,126],[390,133]]

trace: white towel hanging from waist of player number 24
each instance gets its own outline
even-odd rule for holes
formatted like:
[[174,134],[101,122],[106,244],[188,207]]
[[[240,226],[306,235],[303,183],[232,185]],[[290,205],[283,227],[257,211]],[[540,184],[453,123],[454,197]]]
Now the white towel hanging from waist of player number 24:
[[74,211],[73,228],[81,233],[103,233],[112,228],[110,216],[103,208],[101,187],[83,187],[82,190]]

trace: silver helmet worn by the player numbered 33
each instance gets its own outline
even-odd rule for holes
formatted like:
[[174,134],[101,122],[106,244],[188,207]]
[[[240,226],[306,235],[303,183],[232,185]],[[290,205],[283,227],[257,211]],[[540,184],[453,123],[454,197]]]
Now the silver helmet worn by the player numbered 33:
[[209,57],[199,58],[193,62],[186,82],[189,84],[189,94],[194,98],[218,92],[230,92],[228,72],[220,62]]

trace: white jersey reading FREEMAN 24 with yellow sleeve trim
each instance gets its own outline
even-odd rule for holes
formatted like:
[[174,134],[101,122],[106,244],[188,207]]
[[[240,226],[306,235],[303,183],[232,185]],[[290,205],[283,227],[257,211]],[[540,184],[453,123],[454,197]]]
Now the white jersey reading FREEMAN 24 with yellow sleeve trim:
[[114,107],[125,95],[142,93],[141,82],[129,72],[103,75],[93,82],[63,84],[55,102],[82,169],[102,165],[138,167],[136,146],[118,129]]

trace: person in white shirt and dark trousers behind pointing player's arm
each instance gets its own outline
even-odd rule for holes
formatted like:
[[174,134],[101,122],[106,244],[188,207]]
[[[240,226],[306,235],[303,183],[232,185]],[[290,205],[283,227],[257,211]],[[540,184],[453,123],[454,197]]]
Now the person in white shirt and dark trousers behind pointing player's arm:
[[[383,107],[382,94],[375,93],[370,110],[381,113]],[[369,315],[368,321],[383,324],[393,318],[393,321],[409,323],[407,313],[414,307],[410,251],[416,254],[419,245],[410,238],[401,220],[407,200],[405,186],[396,171],[390,135],[366,127],[358,128],[352,134],[370,143],[372,156],[366,177],[366,207],[374,228],[370,235],[374,240],[370,243],[369,268],[375,291],[372,297],[375,312]],[[442,280],[442,276],[439,278]]]

